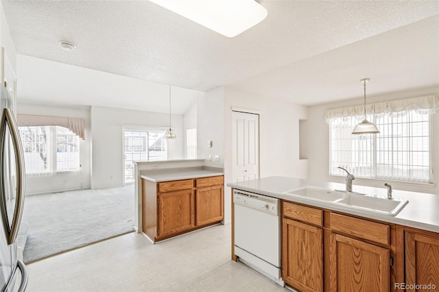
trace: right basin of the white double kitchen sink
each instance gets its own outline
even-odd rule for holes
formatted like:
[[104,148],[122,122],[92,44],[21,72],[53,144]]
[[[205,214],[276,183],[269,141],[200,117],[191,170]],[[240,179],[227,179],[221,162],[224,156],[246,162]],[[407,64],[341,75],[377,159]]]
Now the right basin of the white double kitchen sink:
[[376,197],[370,195],[349,194],[344,199],[337,201],[337,204],[344,204],[351,208],[367,210],[380,214],[395,216],[401,211],[408,201],[405,199],[388,199],[386,197]]

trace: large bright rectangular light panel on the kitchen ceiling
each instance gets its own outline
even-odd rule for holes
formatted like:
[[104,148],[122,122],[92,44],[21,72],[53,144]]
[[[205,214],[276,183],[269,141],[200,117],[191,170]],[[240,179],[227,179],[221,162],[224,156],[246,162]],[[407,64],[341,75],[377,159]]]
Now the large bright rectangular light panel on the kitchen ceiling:
[[150,0],[214,32],[233,38],[257,25],[267,10],[254,0]]

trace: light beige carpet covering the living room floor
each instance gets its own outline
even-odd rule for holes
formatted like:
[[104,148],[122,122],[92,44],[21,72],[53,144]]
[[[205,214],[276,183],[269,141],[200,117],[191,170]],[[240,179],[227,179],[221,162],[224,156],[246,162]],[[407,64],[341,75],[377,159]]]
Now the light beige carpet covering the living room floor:
[[25,197],[25,263],[131,232],[134,185]]

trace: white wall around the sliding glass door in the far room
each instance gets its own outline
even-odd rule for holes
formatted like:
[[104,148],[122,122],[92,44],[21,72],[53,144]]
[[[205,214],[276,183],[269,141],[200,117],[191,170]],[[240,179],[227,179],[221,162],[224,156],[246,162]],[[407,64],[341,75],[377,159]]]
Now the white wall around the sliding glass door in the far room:
[[[124,110],[121,108],[91,107],[91,188],[123,184],[123,132],[129,125],[166,127],[169,114]],[[172,159],[184,158],[183,116],[172,115],[172,125],[178,138],[171,147]]]

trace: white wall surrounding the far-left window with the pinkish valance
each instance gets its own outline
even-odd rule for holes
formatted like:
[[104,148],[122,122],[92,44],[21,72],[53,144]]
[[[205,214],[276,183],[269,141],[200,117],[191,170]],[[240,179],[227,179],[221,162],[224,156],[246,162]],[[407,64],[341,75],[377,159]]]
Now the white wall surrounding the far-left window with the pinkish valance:
[[26,195],[89,188],[91,173],[90,109],[18,104],[17,112],[19,114],[84,118],[85,122],[85,139],[80,140],[81,171],[79,173],[54,173],[52,175],[26,176]]

